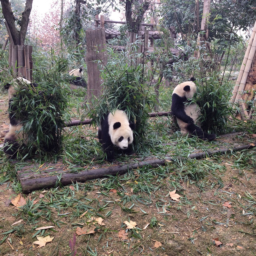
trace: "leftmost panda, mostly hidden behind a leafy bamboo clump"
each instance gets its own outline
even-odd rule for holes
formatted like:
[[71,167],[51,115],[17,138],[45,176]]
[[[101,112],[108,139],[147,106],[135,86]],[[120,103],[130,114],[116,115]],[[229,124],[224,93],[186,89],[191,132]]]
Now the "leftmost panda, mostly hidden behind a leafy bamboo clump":
[[28,136],[22,130],[22,120],[16,116],[15,108],[12,105],[13,97],[17,97],[16,91],[18,87],[24,84],[32,86],[32,88],[37,87],[36,83],[31,83],[27,79],[20,77],[16,78],[12,84],[6,83],[4,85],[4,88],[8,90],[10,128],[4,138],[3,151],[12,157],[17,155],[22,144],[27,145],[28,143]]

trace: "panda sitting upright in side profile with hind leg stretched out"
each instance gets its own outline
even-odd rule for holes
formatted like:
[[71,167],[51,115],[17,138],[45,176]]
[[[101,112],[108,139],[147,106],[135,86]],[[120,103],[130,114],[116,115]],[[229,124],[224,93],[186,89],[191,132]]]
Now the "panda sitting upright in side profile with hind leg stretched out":
[[[197,136],[203,140],[212,141],[216,138],[215,134],[204,133],[200,128],[198,120],[200,109],[196,103],[189,104],[189,99],[193,98],[196,93],[195,79],[178,84],[172,93],[172,114],[176,116],[177,123],[182,134]],[[185,104],[188,103],[188,104]]]

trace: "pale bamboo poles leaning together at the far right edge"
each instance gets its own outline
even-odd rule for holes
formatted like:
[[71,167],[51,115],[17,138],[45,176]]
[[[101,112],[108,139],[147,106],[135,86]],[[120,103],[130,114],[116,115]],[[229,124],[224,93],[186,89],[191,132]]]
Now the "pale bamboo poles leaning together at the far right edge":
[[[245,94],[245,86],[246,86],[248,75],[250,72],[253,72],[253,70],[251,70],[251,67],[253,65],[255,53],[256,53],[256,22],[254,24],[252,35],[250,37],[248,47],[246,49],[245,56],[243,59],[243,63],[240,68],[239,75],[232,92],[232,98],[230,100],[231,102],[239,105],[241,118],[243,120],[250,118],[252,114],[252,110],[250,111],[249,114],[247,112],[247,108],[245,106],[245,100],[244,100],[245,97],[243,97],[243,95]],[[251,91],[250,93],[252,92],[254,93],[254,90]],[[254,97],[254,101],[255,100],[256,100],[256,95]]]

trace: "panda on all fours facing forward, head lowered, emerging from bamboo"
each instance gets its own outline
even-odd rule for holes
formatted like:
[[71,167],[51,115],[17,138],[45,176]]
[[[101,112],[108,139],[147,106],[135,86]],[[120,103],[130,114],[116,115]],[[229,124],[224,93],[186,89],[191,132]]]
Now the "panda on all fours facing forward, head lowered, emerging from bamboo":
[[113,161],[114,146],[122,153],[131,154],[133,142],[134,123],[129,123],[128,117],[123,110],[110,112],[101,119],[98,129],[98,138],[106,153],[106,159]]

